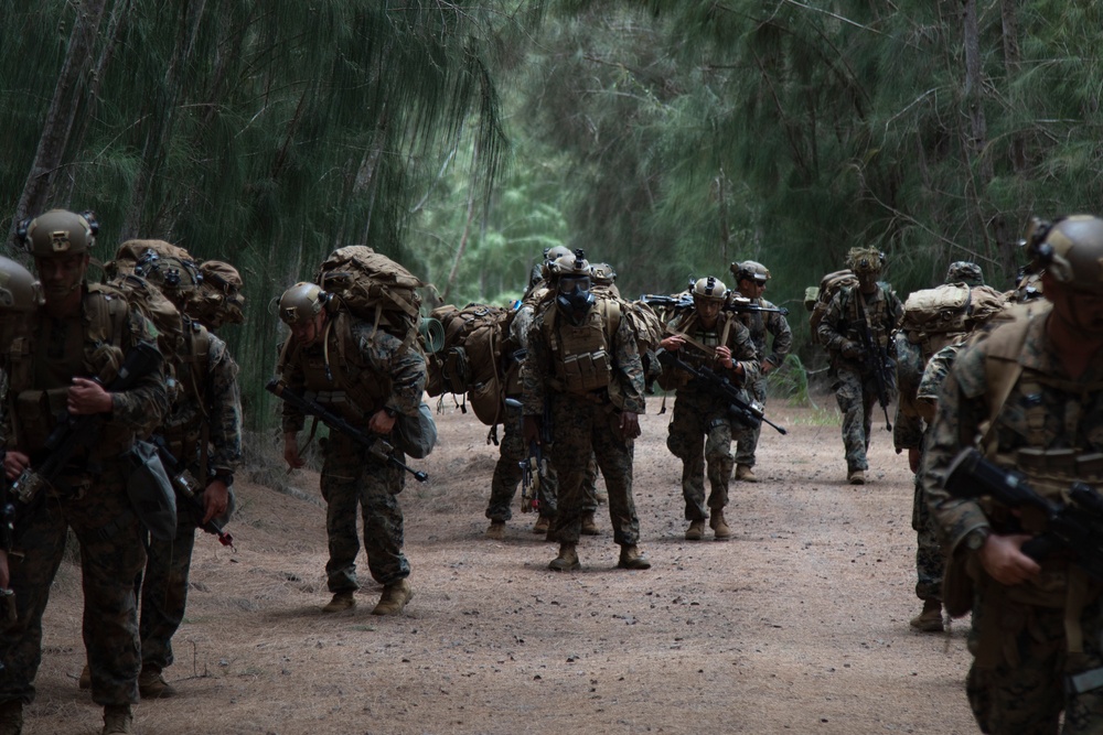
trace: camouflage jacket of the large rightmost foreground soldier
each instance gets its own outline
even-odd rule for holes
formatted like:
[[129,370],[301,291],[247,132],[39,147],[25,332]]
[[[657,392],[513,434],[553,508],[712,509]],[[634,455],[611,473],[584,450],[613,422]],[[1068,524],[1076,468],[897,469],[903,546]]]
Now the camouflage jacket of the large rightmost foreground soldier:
[[990,378],[986,368],[995,359],[989,357],[993,343],[1004,329],[1025,331],[1017,352],[1017,365],[1022,371],[998,407],[992,431],[985,434],[987,441],[981,448],[988,458],[1011,466],[1016,452],[1024,448],[1072,450],[1078,455],[1103,452],[1103,356],[1096,355],[1081,377],[1070,378],[1060,360],[1047,349],[1047,322],[1046,316],[1039,316],[1025,326],[1006,324],[962,349],[939,393],[925,445],[922,484],[931,512],[951,550],[975,528],[995,525],[997,531],[1003,530],[979,502],[953,498],[942,485],[959,452],[978,442],[995,408],[989,401],[998,400],[989,397]]

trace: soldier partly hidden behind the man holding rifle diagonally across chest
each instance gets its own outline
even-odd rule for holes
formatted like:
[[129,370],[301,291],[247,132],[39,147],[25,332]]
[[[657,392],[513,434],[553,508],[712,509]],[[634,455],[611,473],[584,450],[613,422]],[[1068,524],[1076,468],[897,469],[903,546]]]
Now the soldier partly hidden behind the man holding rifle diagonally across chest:
[[[753,260],[745,260],[741,263],[731,263],[731,272],[736,275],[736,290],[739,294],[750,299],[752,303],[763,309],[777,309],[772,303],[762,298],[765,293],[767,282],[770,280],[770,271],[762,263]],[[785,355],[793,347],[793,332],[789,328],[789,322],[782,314],[775,312],[748,312],[741,317],[742,323],[750,329],[751,344],[754,346],[754,359],[759,366],[759,377],[747,382],[747,390],[751,398],[765,406],[765,377],[781,367],[785,360]],[[773,348],[767,352],[767,334],[773,336]],[[757,483],[754,476],[754,450],[758,447],[759,435],[762,433],[762,424],[753,428],[735,426],[732,439],[736,441],[736,479],[745,483]]]

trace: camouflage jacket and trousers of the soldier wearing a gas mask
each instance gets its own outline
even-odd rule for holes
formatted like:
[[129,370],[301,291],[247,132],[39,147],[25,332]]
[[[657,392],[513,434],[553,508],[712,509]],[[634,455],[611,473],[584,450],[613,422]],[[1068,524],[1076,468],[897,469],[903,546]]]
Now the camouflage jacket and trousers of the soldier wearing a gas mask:
[[[585,393],[568,392],[561,366],[555,359],[566,320],[549,307],[536,318],[528,334],[528,357],[522,370],[524,414],[540,417],[545,401],[552,409],[552,462],[559,479],[559,514],[556,530],[560,543],[575,544],[586,512],[583,479],[591,453],[597,458],[609,491],[609,516],[613,541],[634,545],[640,538],[640,519],[632,497],[633,440],[623,439],[619,428],[621,411],[643,413],[643,365],[628,318],[619,314],[614,334],[609,335],[612,301],[599,299],[590,307],[591,318],[600,318],[608,354],[612,357],[610,383]],[[600,316],[597,316],[597,315]],[[611,337],[611,338],[610,338]]]

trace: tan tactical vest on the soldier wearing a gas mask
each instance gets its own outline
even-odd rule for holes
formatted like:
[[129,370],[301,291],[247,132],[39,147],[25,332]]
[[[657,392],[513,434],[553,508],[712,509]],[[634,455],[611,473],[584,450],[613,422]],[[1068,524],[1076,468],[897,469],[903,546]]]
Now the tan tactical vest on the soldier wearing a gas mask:
[[[611,312],[620,316],[615,302],[599,300],[580,326],[560,318],[559,310],[549,305],[543,314],[542,328],[550,348],[552,380],[556,390],[585,396],[607,389],[612,380],[612,334],[615,328]],[[619,325],[619,318],[615,320]],[[607,335],[607,329],[610,334]]]

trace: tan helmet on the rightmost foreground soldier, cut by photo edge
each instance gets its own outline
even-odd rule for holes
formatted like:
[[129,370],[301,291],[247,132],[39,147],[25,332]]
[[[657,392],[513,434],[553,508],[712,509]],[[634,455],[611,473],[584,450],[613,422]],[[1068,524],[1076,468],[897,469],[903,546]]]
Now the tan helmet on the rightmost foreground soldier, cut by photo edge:
[[1034,219],[1024,242],[1032,270],[1058,283],[1103,293],[1103,219],[1072,215],[1050,224]]

